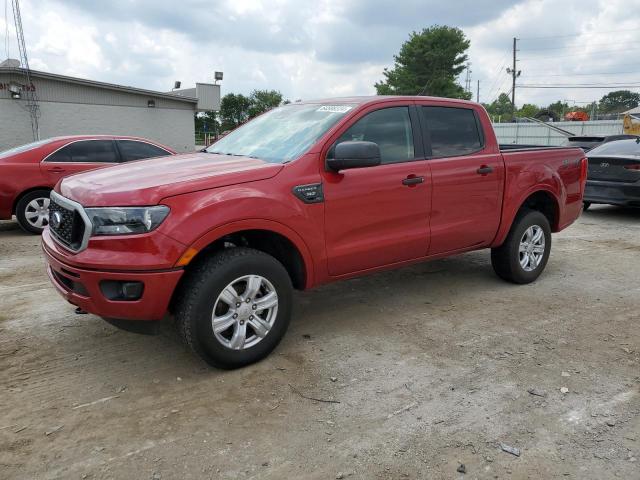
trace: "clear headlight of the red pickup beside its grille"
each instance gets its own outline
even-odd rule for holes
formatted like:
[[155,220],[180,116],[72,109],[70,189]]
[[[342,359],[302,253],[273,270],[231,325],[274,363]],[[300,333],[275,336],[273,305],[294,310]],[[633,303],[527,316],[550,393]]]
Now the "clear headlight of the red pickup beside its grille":
[[130,235],[155,229],[169,215],[169,207],[86,208],[93,235]]

